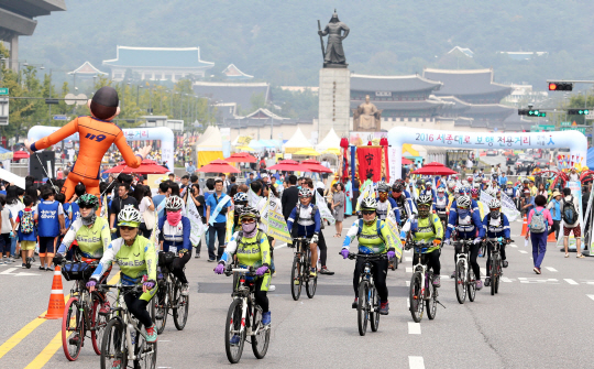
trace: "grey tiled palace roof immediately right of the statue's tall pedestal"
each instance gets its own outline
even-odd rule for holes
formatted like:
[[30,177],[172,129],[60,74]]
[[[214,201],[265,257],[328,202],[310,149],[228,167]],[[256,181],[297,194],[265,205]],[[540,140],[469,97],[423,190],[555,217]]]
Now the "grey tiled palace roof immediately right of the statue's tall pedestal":
[[408,76],[370,76],[351,75],[351,90],[355,91],[418,91],[418,90],[438,90],[441,83],[429,80],[419,75]]

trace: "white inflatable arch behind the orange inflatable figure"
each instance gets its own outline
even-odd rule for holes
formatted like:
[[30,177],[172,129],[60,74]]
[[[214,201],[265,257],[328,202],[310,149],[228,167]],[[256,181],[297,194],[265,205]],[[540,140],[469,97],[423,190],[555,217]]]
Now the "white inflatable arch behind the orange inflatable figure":
[[[61,129],[62,127],[47,127],[47,126],[34,126],[29,130],[28,139],[30,142],[35,142],[50,135]],[[125,139],[128,141],[147,141],[160,140],[161,141],[161,158],[164,162],[167,162],[167,167],[174,170],[174,141],[175,135],[173,131],[167,127],[154,127],[154,128],[130,128],[122,129]],[[68,137],[66,140],[78,141],[78,133]]]

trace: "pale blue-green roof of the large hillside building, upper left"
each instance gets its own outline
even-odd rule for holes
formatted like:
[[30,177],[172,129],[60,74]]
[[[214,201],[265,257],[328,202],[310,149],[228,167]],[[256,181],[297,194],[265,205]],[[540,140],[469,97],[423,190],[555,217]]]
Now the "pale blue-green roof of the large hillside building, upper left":
[[200,47],[130,47],[118,46],[114,59],[103,65],[118,67],[162,67],[208,69],[215,63],[200,59]]

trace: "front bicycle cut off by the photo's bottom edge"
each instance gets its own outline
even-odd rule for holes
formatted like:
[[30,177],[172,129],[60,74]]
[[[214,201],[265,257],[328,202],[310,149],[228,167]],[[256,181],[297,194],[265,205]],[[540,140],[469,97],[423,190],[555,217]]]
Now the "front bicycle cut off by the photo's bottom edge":
[[133,361],[134,368],[156,368],[157,343],[146,341],[142,323],[132,316],[123,300],[124,294],[142,293],[142,284],[98,284],[97,287],[100,291],[119,291],[101,341],[101,369],[127,368],[128,361]]

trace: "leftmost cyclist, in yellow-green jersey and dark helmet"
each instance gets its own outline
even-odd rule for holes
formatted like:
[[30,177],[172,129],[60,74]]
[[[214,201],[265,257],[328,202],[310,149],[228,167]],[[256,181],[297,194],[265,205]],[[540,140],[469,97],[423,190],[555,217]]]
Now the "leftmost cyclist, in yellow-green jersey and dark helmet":
[[[111,234],[109,224],[106,218],[97,217],[97,208],[99,199],[95,195],[84,194],[78,199],[80,216],[73,221],[73,225],[64,236],[62,243],[54,256],[54,264],[58,265],[64,260],[64,256],[73,246],[74,240],[77,241],[78,248],[76,254],[80,261],[90,263],[99,261],[103,257],[109,242],[111,242]],[[106,281],[111,272],[111,264],[107,268],[101,279],[101,283]],[[110,313],[109,301],[105,300],[101,305],[100,314]]]

